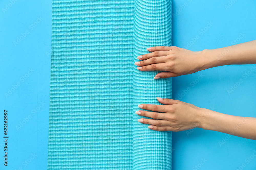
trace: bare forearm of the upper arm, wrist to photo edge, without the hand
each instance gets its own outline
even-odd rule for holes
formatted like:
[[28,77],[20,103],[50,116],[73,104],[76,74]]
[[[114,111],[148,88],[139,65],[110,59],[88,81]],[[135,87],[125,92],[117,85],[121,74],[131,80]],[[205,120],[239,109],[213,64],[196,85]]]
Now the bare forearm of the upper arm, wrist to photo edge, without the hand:
[[230,64],[256,64],[256,40],[217,49],[205,49],[200,52],[202,68]]

